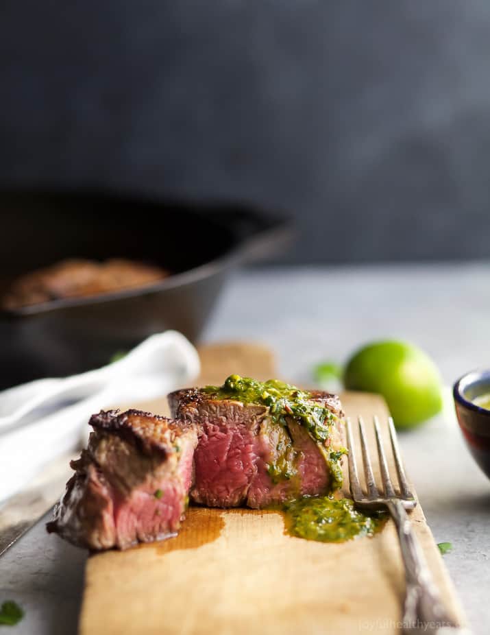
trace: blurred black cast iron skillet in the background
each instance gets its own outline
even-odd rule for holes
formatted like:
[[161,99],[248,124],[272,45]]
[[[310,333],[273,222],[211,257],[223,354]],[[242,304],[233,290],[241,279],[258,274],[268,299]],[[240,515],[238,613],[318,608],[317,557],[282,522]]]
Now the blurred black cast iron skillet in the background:
[[97,192],[3,192],[0,217],[0,292],[64,258],[123,256],[173,272],[149,287],[0,311],[0,388],[103,366],[167,328],[195,341],[232,269],[291,237],[287,221],[246,206]]

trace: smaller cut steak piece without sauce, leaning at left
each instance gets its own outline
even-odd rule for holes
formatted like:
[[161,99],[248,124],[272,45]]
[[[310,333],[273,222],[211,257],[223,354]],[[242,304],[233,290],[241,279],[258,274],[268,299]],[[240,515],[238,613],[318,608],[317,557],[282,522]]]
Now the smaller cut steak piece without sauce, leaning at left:
[[197,431],[139,410],[100,411],[47,530],[88,549],[175,535],[193,480]]

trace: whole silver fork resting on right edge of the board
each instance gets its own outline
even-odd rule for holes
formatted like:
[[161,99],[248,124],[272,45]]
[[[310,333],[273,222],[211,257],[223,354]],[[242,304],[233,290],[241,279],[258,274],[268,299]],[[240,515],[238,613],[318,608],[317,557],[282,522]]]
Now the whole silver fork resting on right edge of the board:
[[469,631],[454,623],[448,610],[446,610],[439,590],[430,574],[426,558],[421,550],[417,538],[412,530],[407,511],[411,511],[417,505],[408,486],[405,470],[402,464],[400,448],[398,446],[393,419],[388,420],[391,446],[395,458],[395,466],[398,475],[400,492],[395,492],[388,470],[387,456],[384,452],[380,422],[378,417],[373,418],[374,431],[376,433],[376,445],[378,446],[378,458],[382,479],[383,492],[380,492],[374,480],[371,458],[365,432],[365,423],[362,417],[358,418],[360,446],[363,455],[364,472],[367,492],[364,494],[360,486],[357,471],[356,448],[352,438],[352,424],[347,418],[347,448],[349,450],[349,480],[350,492],[356,507],[375,511],[388,510],[397,527],[400,548],[405,566],[406,595],[403,614],[403,632],[410,633],[438,633],[449,632],[451,635],[465,635]]

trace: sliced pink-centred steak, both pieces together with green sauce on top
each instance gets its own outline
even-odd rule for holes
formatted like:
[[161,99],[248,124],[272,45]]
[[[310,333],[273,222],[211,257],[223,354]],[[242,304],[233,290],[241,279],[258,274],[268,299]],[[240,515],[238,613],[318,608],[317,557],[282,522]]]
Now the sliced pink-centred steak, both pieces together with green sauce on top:
[[174,419],[101,411],[72,462],[48,531],[89,549],[175,534],[188,495],[209,507],[262,508],[342,481],[339,398],[231,375],[169,395]]

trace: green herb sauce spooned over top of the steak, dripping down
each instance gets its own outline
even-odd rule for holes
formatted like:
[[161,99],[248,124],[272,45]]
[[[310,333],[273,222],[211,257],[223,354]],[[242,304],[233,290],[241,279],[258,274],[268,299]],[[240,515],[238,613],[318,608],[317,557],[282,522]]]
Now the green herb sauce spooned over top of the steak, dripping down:
[[[310,392],[299,390],[278,379],[261,382],[239,375],[230,375],[222,386],[206,386],[202,390],[219,399],[234,399],[241,403],[268,406],[271,421],[286,431],[288,420],[295,420],[308,431],[325,457],[331,474],[330,489],[333,491],[341,487],[343,475],[340,460],[347,450],[329,450],[325,444],[332,435],[332,426],[337,418],[328,408],[313,401]],[[291,438],[288,436],[282,440],[277,450],[278,457],[268,466],[273,483],[281,479],[291,479],[297,474]]]

